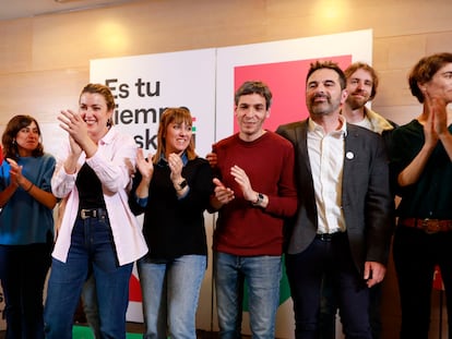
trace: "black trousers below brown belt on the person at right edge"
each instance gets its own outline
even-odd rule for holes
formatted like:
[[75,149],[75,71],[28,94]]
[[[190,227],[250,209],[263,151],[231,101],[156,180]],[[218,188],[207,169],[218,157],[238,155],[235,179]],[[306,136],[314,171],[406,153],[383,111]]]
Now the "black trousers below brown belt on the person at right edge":
[[428,339],[435,266],[444,283],[449,338],[452,338],[452,231],[428,234],[399,226],[393,241],[402,307],[402,339]]

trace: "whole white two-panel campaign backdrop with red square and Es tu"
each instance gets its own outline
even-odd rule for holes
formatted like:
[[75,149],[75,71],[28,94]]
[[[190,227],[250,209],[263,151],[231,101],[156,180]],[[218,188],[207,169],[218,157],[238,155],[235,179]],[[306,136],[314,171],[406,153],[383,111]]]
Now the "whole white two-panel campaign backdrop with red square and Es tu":
[[[265,128],[305,119],[305,78],[310,62],[333,60],[371,64],[370,29],[334,35],[234,46],[217,49],[146,55],[91,62],[91,82],[108,85],[118,104],[115,123],[135,137],[146,153],[155,150],[159,114],[165,107],[185,106],[193,114],[197,150],[205,156],[213,142],[237,131],[234,92],[246,80],[261,80],[273,93]],[[212,244],[214,216],[206,214],[207,244]],[[197,327],[217,330],[212,289],[212,255],[201,290]],[[141,322],[140,286],[134,270],[128,319]],[[243,334],[250,334],[243,307]],[[292,301],[284,277],[276,324],[277,338],[294,338]]]

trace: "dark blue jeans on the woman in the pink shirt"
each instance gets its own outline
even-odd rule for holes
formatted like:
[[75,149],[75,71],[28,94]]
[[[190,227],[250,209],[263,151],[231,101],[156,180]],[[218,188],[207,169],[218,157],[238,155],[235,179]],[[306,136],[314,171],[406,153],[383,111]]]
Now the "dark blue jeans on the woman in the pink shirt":
[[76,219],[66,263],[53,258],[44,313],[47,339],[72,338],[72,323],[90,267],[103,338],[126,338],[133,263],[119,266],[108,218]]

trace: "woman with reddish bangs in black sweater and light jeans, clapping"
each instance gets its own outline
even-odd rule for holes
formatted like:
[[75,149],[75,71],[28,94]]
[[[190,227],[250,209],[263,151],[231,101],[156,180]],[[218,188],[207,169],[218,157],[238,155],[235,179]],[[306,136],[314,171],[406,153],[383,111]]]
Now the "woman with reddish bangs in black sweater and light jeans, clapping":
[[188,109],[168,108],[162,116],[157,152],[144,158],[130,205],[144,213],[143,233],[150,252],[139,261],[143,293],[144,338],[197,338],[195,312],[207,246],[204,210],[213,193],[209,162],[194,153]]

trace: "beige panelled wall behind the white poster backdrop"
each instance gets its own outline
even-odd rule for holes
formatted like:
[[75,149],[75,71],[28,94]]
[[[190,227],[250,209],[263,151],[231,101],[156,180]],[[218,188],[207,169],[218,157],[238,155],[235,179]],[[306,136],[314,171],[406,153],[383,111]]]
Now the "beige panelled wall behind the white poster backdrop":
[[[86,12],[0,22],[0,125],[17,113],[55,122],[76,106],[98,58],[225,47],[373,29],[381,76],[373,109],[399,123],[419,112],[406,74],[423,56],[452,51],[450,0],[143,0]],[[304,80],[300,80],[304,81]],[[393,270],[384,338],[396,338]],[[433,320],[436,323],[436,320]]]

